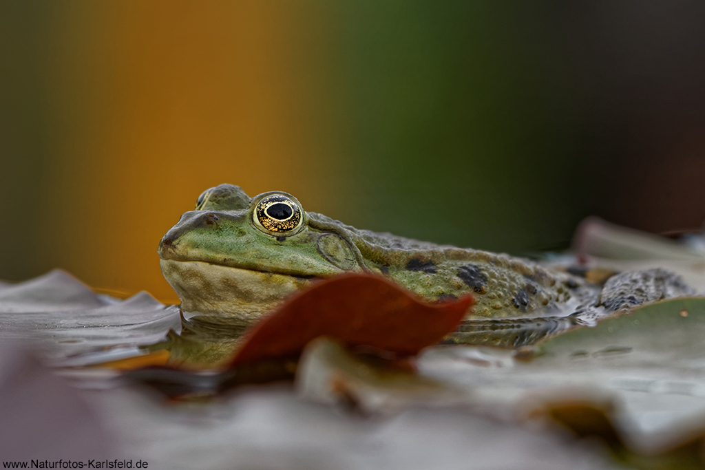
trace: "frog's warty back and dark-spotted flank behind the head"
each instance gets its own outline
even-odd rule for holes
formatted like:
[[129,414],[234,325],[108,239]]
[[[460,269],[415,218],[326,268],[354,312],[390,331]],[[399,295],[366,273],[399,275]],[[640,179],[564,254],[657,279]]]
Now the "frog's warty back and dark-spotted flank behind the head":
[[310,214],[312,225],[336,230],[355,245],[366,268],[396,280],[418,295],[444,300],[472,293],[474,316],[516,318],[575,309],[594,286],[581,278],[506,254],[420,242],[375,233]]

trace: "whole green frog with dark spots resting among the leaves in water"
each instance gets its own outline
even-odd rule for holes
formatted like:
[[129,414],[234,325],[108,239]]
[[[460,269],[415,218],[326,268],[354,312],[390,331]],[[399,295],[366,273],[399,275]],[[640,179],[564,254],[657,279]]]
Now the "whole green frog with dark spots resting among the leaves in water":
[[[472,295],[474,306],[455,335],[460,342],[496,330],[516,333],[526,319],[544,335],[571,315],[583,314],[579,321],[585,321],[586,312],[694,293],[660,268],[618,273],[599,285],[508,254],[354,228],[305,211],[287,192],[249,197],[229,184],[202,192],[195,209],[161,238],[157,252],[161,272],[186,312],[250,324],[317,280],[372,273],[429,302]],[[515,334],[515,345],[522,341],[532,338]]]

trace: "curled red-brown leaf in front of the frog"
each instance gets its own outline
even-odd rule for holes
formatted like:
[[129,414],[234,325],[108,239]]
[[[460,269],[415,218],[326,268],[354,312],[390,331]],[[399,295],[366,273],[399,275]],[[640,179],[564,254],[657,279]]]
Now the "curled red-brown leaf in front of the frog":
[[348,346],[417,354],[453,331],[473,303],[468,295],[429,304],[379,276],[336,276],[288,299],[252,326],[232,366],[296,356],[323,335]]

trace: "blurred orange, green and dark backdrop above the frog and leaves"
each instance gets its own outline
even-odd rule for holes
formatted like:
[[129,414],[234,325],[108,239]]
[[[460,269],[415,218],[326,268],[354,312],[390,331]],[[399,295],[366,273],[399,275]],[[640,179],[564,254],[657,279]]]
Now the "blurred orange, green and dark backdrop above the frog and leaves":
[[526,254],[705,220],[701,1],[0,0],[0,278],[176,299],[203,190]]

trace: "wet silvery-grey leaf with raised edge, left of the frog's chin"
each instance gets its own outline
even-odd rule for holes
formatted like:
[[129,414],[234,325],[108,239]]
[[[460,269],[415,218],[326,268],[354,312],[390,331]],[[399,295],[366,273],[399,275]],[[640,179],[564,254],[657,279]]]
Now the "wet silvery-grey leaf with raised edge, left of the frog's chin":
[[55,270],[0,290],[0,339],[35,342],[52,363],[84,366],[142,354],[140,346],[181,330],[178,308],[147,292],[125,300],[96,295]]

